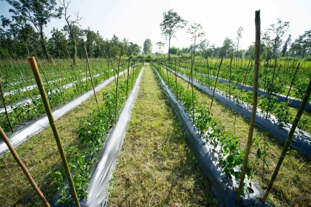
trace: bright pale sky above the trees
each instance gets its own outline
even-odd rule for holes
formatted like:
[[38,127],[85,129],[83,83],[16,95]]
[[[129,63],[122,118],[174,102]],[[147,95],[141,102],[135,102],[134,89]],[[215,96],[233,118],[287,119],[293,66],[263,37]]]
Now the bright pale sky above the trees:
[[[0,14],[11,16],[8,12],[10,5],[0,1]],[[142,46],[146,38],[151,39],[153,52],[156,52],[156,42],[165,41],[161,36],[160,23],[162,12],[173,9],[188,25],[177,32],[176,39],[171,40],[171,46],[187,47],[190,45],[190,35],[187,28],[193,22],[201,23],[210,44],[222,46],[226,37],[235,39],[238,26],[244,28],[239,47],[247,49],[255,40],[255,10],[260,9],[261,31],[276,22],[276,18],[290,22],[290,29],[285,34],[292,35],[293,39],[304,31],[311,29],[311,0],[72,0],[69,13],[79,12],[83,16],[83,29],[99,30],[104,38],[111,38],[116,34],[120,39],[127,38],[130,42]],[[45,34],[50,37],[53,27],[63,28],[65,20],[53,19],[44,28]],[[201,39],[204,39],[201,38]],[[236,41],[236,40],[234,40]],[[166,45],[168,48],[168,44]],[[167,48],[164,48],[165,50]],[[162,50],[162,49],[161,49]]]

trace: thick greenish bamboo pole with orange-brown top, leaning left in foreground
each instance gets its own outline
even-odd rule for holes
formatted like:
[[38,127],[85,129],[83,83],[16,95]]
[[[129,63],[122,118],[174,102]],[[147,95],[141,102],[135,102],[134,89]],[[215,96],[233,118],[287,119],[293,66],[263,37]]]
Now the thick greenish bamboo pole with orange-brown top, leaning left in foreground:
[[59,154],[60,154],[60,156],[62,158],[62,162],[63,162],[63,166],[64,166],[64,169],[65,169],[65,172],[66,172],[66,175],[67,175],[69,186],[70,186],[71,191],[72,191],[72,197],[75,200],[75,204],[78,207],[80,207],[79,199],[78,199],[78,196],[77,196],[77,193],[76,193],[76,189],[75,189],[74,183],[72,181],[70,169],[69,169],[69,166],[68,166],[68,163],[67,163],[66,154],[65,154],[65,151],[63,149],[62,142],[60,140],[60,136],[58,134],[58,130],[57,130],[57,127],[56,127],[56,124],[55,124],[55,120],[54,120],[54,117],[53,117],[53,114],[52,114],[52,110],[51,110],[50,105],[49,105],[48,97],[46,96],[46,93],[45,93],[45,90],[44,90],[44,86],[43,86],[42,79],[41,79],[41,76],[40,76],[40,73],[39,73],[39,70],[38,70],[37,63],[35,61],[35,57],[29,57],[28,60],[30,62],[32,71],[33,71],[35,79],[36,79],[36,83],[38,85],[38,89],[39,89],[39,92],[40,92],[40,95],[41,95],[41,98],[42,98],[42,102],[43,102],[43,105],[44,105],[44,108],[45,108],[45,111],[46,111],[46,115],[49,118],[49,123],[50,123],[51,129],[53,131],[53,135],[54,135],[57,147],[58,147]]

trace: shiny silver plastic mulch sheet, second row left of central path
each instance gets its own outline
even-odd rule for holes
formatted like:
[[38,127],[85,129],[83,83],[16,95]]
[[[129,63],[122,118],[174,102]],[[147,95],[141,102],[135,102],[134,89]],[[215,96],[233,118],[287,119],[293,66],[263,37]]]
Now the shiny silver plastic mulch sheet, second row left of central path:
[[[127,69],[125,71],[120,72],[119,76],[123,75],[123,73],[126,71],[127,71]],[[107,86],[112,81],[114,81],[114,76],[110,77],[109,79],[102,82],[100,85],[96,86],[95,91],[96,92],[99,91],[100,89],[104,88],[105,86]],[[54,110],[53,111],[54,119],[56,120],[56,119],[62,117],[63,115],[67,114],[70,110],[79,106],[82,102],[86,101],[86,99],[88,99],[93,94],[94,94],[93,89],[91,89],[90,91],[84,93],[80,97],[78,97],[78,98],[74,99],[73,101],[65,104],[61,108]],[[33,122],[30,122],[25,127],[21,128],[20,130],[16,131],[15,133],[13,133],[9,137],[9,139],[10,139],[12,145],[14,146],[14,148],[16,148],[21,143],[26,142],[26,140],[29,137],[32,137],[33,135],[39,133],[41,130],[43,130],[44,128],[47,128],[48,126],[49,126],[49,119],[48,119],[47,115],[44,115],[44,116],[40,117],[39,119],[37,119]],[[2,155],[4,152],[6,152],[8,150],[9,149],[7,148],[7,145],[3,141],[1,141],[0,142],[0,155]]]

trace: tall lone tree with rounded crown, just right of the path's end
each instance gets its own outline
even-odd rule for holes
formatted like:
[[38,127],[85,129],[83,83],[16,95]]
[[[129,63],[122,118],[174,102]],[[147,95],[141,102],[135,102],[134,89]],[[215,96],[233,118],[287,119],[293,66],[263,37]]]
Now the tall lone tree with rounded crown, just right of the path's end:
[[177,14],[177,12],[173,11],[173,9],[167,12],[163,12],[163,21],[160,24],[160,29],[162,31],[161,35],[165,36],[166,40],[169,40],[169,49],[171,38],[175,38],[176,31],[178,29],[183,29],[187,23],[188,21],[182,19],[181,16]]

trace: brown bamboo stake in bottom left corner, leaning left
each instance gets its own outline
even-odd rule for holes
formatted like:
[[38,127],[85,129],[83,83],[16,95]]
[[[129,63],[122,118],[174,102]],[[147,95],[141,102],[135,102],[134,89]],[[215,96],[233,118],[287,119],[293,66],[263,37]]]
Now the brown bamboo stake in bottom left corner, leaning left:
[[49,202],[45,199],[43,193],[40,191],[39,187],[35,183],[35,180],[32,178],[30,172],[28,171],[27,167],[17,154],[16,150],[14,149],[12,143],[7,138],[7,135],[4,133],[3,129],[0,127],[0,136],[2,137],[3,141],[7,144],[7,147],[9,148],[10,152],[13,155],[14,160],[16,160],[17,164],[20,166],[20,168],[23,170],[24,174],[26,175],[26,178],[28,179],[30,185],[34,188],[37,195],[40,197],[42,203],[46,207],[50,207]]

